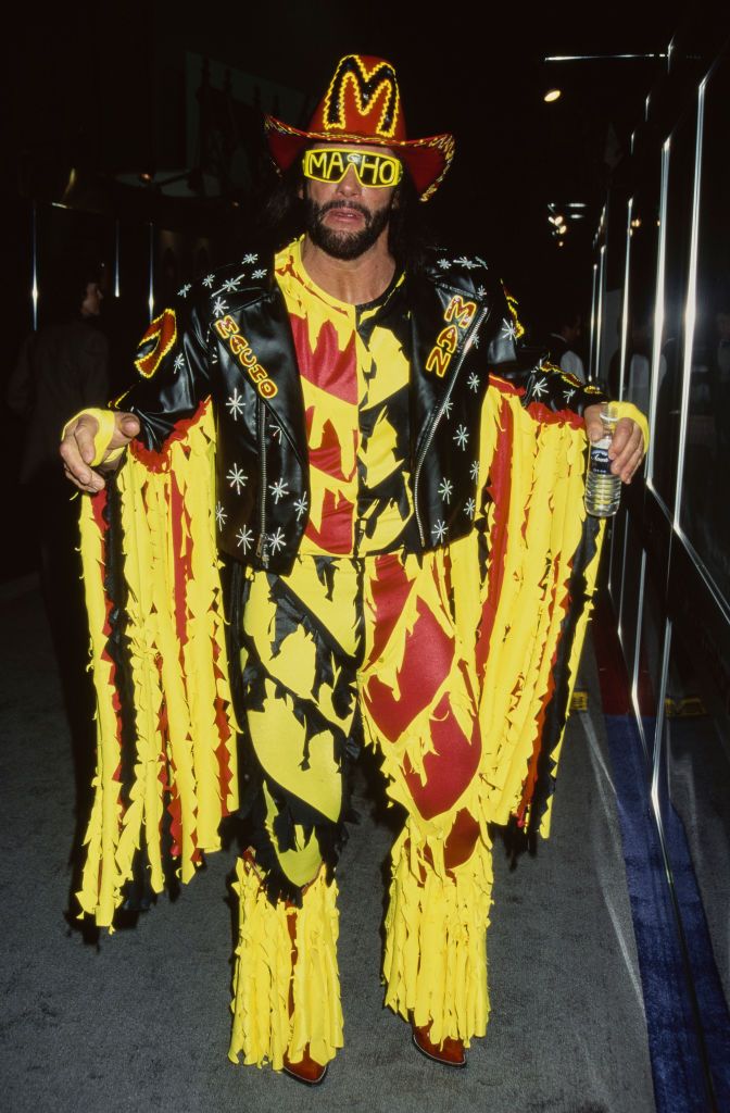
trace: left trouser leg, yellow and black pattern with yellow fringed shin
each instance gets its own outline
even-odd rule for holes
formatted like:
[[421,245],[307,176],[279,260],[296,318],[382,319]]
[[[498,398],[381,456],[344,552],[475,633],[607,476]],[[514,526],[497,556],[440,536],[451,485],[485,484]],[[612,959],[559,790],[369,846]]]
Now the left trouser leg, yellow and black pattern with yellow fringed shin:
[[236,883],[229,1057],[275,1070],[305,1048],[324,1065],[343,1044],[332,868],[355,711],[349,565],[333,583],[329,593],[314,562],[300,560],[286,579],[256,573],[244,610],[246,722],[263,784],[254,850]]

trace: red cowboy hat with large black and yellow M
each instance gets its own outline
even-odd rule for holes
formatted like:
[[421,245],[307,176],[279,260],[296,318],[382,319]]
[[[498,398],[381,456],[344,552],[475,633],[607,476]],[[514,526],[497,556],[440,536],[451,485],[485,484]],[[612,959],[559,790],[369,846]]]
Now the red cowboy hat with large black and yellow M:
[[353,142],[391,147],[405,164],[421,200],[438,188],[454,155],[454,137],[406,139],[395,70],[383,58],[346,55],[324,99],[300,131],[274,116],[265,117],[266,138],[280,170],[313,142]]

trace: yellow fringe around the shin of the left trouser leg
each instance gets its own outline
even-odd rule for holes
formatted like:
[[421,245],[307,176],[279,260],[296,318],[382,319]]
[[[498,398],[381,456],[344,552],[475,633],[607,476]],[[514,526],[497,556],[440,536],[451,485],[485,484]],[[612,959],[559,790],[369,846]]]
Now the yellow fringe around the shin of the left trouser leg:
[[[320,871],[297,909],[282,900],[273,905],[256,870],[244,859],[238,860],[237,877],[240,920],[228,1058],[238,1063],[243,1054],[247,1065],[270,1063],[280,1071],[285,1055],[297,1063],[308,1047],[312,1058],[324,1066],[343,1046],[336,885],[327,885]],[[296,925],[295,964],[290,917]]]

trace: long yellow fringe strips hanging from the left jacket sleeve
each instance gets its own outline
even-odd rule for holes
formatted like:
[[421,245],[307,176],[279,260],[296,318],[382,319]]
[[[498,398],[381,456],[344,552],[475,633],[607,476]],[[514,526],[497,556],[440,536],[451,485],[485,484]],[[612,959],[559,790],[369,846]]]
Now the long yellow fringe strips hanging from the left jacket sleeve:
[[[134,784],[126,808],[119,782],[114,666],[106,656],[103,632],[103,536],[91,501],[82,505],[81,554],[97,693],[98,759],[78,899],[82,913],[95,915],[100,926],[111,926],[142,846],[151,887],[155,893],[162,890],[162,820],[171,801],[179,806],[175,834],[182,881],[194,876],[200,851],[219,848],[220,819],[237,806],[236,726],[213,512],[214,453],[213,415],[206,408],[186,437],[174,441],[160,457],[160,471],[151,471],[128,454],[118,477],[129,592],[126,636],[137,726]],[[172,483],[179,490],[181,510],[172,503]],[[179,526],[178,552],[174,551],[174,518]],[[189,571],[176,580],[185,554],[189,554]],[[182,644],[176,622],[177,591],[185,615]],[[216,721],[216,696],[227,720],[223,735]],[[167,728],[161,723],[164,715]],[[219,756],[230,774],[223,792]]]

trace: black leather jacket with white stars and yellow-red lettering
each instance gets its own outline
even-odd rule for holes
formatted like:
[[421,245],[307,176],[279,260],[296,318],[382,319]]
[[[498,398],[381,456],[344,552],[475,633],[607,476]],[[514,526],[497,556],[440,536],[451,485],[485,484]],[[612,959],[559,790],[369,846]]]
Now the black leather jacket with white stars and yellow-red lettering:
[[[601,401],[560,371],[525,357],[501,283],[477,257],[433,250],[385,299],[411,362],[410,459],[424,550],[468,533],[479,484],[479,423],[494,372],[523,404],[553,411]],[[367,326],[364,326],[367,327]],[[299,372],[273,258],[250,253],[179,292],[145,334],[141,377],[118,406],[138,415],[146,447],[161,451],[176,424],[210,396],[217,427],[219,549],[275,572],[290,570],[309,504]],[[452,484],[445,502],[440,486]]]

